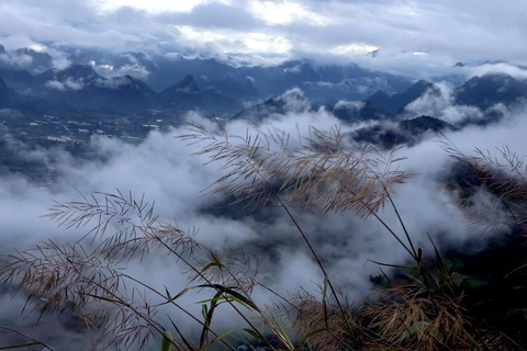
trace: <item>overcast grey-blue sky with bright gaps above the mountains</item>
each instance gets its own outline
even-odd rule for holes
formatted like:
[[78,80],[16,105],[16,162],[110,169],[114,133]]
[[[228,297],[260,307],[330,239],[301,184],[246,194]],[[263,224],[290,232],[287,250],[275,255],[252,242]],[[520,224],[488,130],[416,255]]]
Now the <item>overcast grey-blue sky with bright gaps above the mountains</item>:
[[[0,43],[349,59],[365,65],[522,64],[522,0],[2,0]],[[368,53],[380,49],[372,59]]]

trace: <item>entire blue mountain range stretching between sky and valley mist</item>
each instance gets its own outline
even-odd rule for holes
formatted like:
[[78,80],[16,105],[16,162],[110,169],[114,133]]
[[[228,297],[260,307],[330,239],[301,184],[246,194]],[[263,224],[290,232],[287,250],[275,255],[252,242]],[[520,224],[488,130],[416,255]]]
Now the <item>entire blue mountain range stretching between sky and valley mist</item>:
[[[481,110],[484,118],[456,125],[434,116],[408,115],[407,106],[425,94],[439,97],[434,82],[371,71],[357,65],[316,65],[290,60],[268,67],[234,67],[216,59],[105,54],[72,50],[63,68],[46,53],[7,52],[0,45],[0,109],[23,113],[82,111],[136,115],[200,110],[223,120],[259,123],[289,112],[324,109],[345,123],[374,123],[356,131],[356,140],[412,144],[413,136],[501,118],[496,104],[527,100],[527,80],[505,73],[469,79],[453,90],[453,103]],[[245,109],[244,109],[245,106]]]

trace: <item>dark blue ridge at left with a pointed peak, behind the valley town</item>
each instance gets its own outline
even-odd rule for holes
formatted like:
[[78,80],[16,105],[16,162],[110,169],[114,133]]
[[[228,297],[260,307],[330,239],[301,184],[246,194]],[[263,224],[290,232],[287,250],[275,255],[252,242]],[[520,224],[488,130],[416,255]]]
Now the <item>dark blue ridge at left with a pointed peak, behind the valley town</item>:
[[[0,71],[0,78],[2,76]],[[124,113],[170,109],[182,113],[198,109],[234,113],[242,109],[242,104],[233,99],[216,92],[202,92],[192,75],[187,75],[160,93],[130,75],[104,78],[93,67],[82,65],[63,70],[49,69],[36,76],[24,70],[9,71],[5,77],[8,81],[18,83],[18,90],[25,92],[27,99],[33,99],[44,110],[61,106],[66,110]],[[4,84],[9,87],[9,83]]]

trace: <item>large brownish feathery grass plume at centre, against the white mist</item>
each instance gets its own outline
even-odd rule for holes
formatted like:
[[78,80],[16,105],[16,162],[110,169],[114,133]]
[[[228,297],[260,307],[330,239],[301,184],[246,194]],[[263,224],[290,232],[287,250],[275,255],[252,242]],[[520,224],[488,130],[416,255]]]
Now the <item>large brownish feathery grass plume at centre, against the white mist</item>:
[[[265,205],[274,192],[285,204],[315,208],[319,214],[354,210],[363,216],[378,212],[388,201],[384,186],[403,183],[393,149],[380,152],[372,145],[349,147],[338,129],[325,134],[312,129],[309,138],[270,133],[256,137],[222,136],[200,126],[182,136],[204,143],[198,155],[209,156],[225,173],[211,184],[211,193],[234,195],[238,201]],[[291,145],[296,145],[293,147]]]

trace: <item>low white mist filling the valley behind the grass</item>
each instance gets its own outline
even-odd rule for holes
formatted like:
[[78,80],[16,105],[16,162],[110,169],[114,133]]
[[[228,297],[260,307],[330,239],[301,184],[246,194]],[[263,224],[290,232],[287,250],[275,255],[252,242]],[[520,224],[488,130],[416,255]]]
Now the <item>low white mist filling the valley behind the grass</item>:
[[[322,131],[338,127],[343,133],[359,127],[341,124],[324,109],[309,109],[309,103],[301,97],[301,91],[290,91],[282,97],[288,101],[284,114],[276,114],[256,126],[244,121],[232,122],[226,125],[226,129],[231,135],[246,135],[247,131],[255,134],[256,131],[269,133],[278,128],[290,133],[290,147],[294,148],[303,143],[298,138],[299,133],[307,136],[313,131],[311,127]],[[425,109],[427,101],[423,100],[422,109]],[[471,127],[459,133],[448,133],[448,137],[467,152],[473,147],[485,149],[505,144],[512,149],[522,150],[525,143],[522,133],[527,127],[527,121],[519,116],[520,113],[509,112],[509,117],[504,120],[502,125],[489,128]],[[217,128],[213,122],[203,120],[195,113],[189,114],[188,118],[211,131]],[[19,144],[13,145],[13,150],[18,150],[20,157],[44,161],[55,170],[58,178],[53,184],[43,188],[20,176],[1,177],[0,223],[4,230],[0,230],[0,247],[5,251],[13,247],[23,249],[47,238],[57,242],[75,240],[86,233],[87,227],[66,231],[57,228],[55,223],[40,217],[48,212],[52,201],[81,200],[76,190],[83,194],[93,190],[112,193],[117,188],[123,193],[132,191],[139,197],[145,194],[145,200],[149,202],[155,200],[156,213],[160,219],[177,220],[181,228],[200,228],[195,238],[211,248],[232,251],[239,246],[250,257],[261,258],[261,279],[279,292],[294,292],[300,286],[309,291],[315,290],[314,283],[322,283],[323,276],[310,258],[309,249],[294,224],[283,211],[268,210],[271,214],[264,219],[265,224],[258,215],[239,216],[237,213],[236,216],[229,216],[227,212],[225,215],[215,216],[208,213],[220,206],[222,195],[200,197],[201,191],[220,178],[223,171],[220,170],[221,165],[203,166],[208,159],[193,155],[200,146],[187,146],[187,143],[177,138],[187,132],[187,127],[180,127],[168,133],[150,133],[139,145],[94,136],[89,147],[91,154],[99,158],[83,160],[74,159],[57,149],[30,150]],[[233,143],[238,143],[236,140],[233,138]],[[427,233],[437,238],[442,247],[460,245],[473,237],[480,238],[484,245],[484,238],[459,214],[445,186],[438,181],[448,171],[451,161],[437,143],[426,140],[415,147],[403,148],[400,152],[401,156],[408,157],[401,163],[401,170],[419,174],[394,190],[394,201],[416,245],[423,247],[425,253],[433,252],[427,241]],[[204,211],[205,208],[209,210]],[[334,282],[343,285],[352,298],[365,296],[370,288],[369,275],[379,273],[375,264],[367,263],[368,259],[402,263],[407,258],[385,228],[372,217],[363,220],[352,213],[316,216],[295,206],[291,206],[291,211],[324,258]],[[389,206],[381,211],[380,215],[399,233],[397,217]],[[115,230],[116,227],[109,228]],[[175,293],[184,287],[182,269],[168,258],[152,254],[142,262],[133,260],[126,263],[126,271],[162,291],[164,284]],[[343,271],[351,273],[343,274]],[[255,294],[262,302],[270,298],[261,290],[257,290]],[[189,293],[180,303],[199,315],[200,306],[195,305],[195,302],[200,298],[205,296]],[[0,305],[3,303],[0,298]],[[15,320],[20,320],[16,313],[19,312],[12,310],[12,314],[4,318],[10,318],[10,324],[14,325]],[[170,314],[177,322],[186,320],[182,322],[183,331],[190,332],[195,327],[188,322],[188,319],[183,319],[184,316],[171,309],[160,313],[159,318],[165,318],[162,316],[166,314]],[[235,314],[227,308],[218,316],[223,324],[220,327],[239,326]],[[47,329],[38,328],[27,327],[27,331],[45,336]],[[56,328],[64,328],[64,325],[58,324]],[[63,340],[67,340],[67,333],[64,336]],[[89,338],[85,338],[78,342],[88,340]]]

